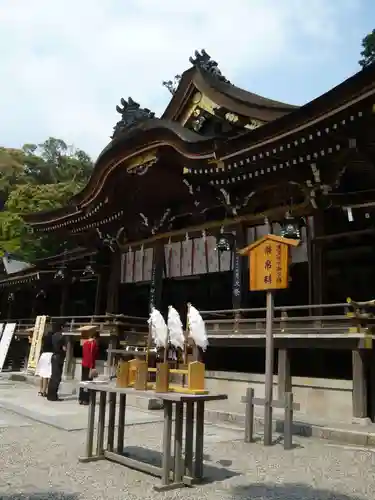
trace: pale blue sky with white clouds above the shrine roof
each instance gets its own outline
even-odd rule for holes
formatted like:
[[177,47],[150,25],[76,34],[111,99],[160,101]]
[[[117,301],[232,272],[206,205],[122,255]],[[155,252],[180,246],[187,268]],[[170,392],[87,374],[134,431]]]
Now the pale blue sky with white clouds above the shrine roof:
[[94,159],[131,96],[160,115],[196,49],[235,85],[304,104],[360,70],[374,0],[0,0],[0,145]]

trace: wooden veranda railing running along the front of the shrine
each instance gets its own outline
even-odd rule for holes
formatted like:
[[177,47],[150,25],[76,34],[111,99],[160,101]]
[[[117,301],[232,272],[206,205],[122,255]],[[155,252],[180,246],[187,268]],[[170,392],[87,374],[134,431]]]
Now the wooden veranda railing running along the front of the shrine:
[[[368,303],[356,303],[368,310]],[[375,313],[375,307],[372,309]],[[362,311],[363,312],[363,311]],[[263,337],[266,328],[266,308],[222,309],[200,311],[205,320],[208,336],[232,336],[234,334]],[[303,306],[275,307],[273,331],[277,336],[342,336],[369,335],[375,332],[375,318],[370,312],[358,315],[348,303],[318,304]],[[101,335],[110,336],[114,329],[121,325],[126,339],[133,339],[137,345],[137,337],[145,338],[148,331],[147,318],[127,315],[102,316],[56,316],[53,320],[65,321],[64,333],[79,336],[79,328],[83,325],[98,326]],[[16,335],[26,335],[32,328],[35,319],[7,320],[16,322]],[[132,342],[131,342],[132,343]]]

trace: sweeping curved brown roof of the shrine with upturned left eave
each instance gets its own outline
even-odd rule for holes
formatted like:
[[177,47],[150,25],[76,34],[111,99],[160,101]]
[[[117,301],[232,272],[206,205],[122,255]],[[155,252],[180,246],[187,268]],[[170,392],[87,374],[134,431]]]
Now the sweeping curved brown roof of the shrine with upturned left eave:
[[[213,101],[240,114],[258,117],[267,121],[265,125],[247,130],[234,138],[205,137],[184,128],[176,120],[184,105],[196,90],[200,90]],[[80,204],[102,186],[101,180],[109,169],[123,164],[124,160],[160,148],[172,148],[184,161],[225,160],[241,154],[246,148],[270,143],[282,134],[298,132],[314,120],[324,119],[340,107],[355,103],[369,89],[375,89],[375,65],[361,70],[326,94],[302,107],[296,107],[266,99],[231,85],[225,78],[192,67],[181,77],[173,98],[161,119],[144,120],[129,130],[118,133],[101,152],[93,175],[87,186],[70,203],[58,210],[30,214],[25,217],[31,225],[46,224],[58,217],[74,217],[80,211]],[[229,108],[229,101],[230,106]],[[257,113],[257,114],[254,114]]]

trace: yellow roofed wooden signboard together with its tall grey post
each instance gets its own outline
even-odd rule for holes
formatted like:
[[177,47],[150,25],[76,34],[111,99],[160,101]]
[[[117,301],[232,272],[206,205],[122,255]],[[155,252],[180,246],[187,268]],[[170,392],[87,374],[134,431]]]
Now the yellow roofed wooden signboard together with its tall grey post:
[[266,377],[264,399],[264,444],[272,444],[272,399],[274,338],[272,331],[274,316],[274,291],[288,288],[289,248],[299,245],[299,240],[269,234],[239,251],[249,257],[249,289],[265,291],[266,312]]

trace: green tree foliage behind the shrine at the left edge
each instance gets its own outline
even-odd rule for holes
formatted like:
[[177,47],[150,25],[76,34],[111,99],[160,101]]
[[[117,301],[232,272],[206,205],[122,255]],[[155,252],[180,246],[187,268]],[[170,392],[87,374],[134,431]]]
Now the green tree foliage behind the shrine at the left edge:
[[32,261],[57,251],[52,237],[35,238],[22,216],[61,207],[90,178],[89,155],[50,137],[22,149],[0,147],[0,253]]

